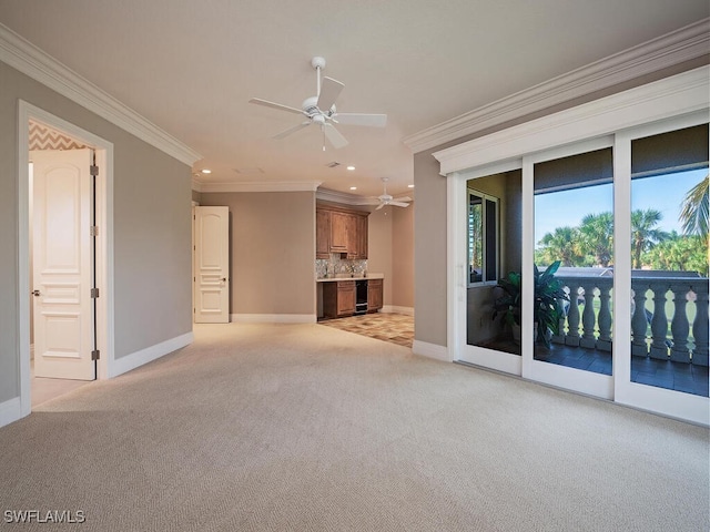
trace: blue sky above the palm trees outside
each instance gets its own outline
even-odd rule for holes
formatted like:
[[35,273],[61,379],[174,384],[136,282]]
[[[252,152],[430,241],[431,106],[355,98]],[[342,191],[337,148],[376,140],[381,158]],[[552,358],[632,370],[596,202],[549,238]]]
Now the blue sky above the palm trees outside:
[[[655,208],[663,215],[662,231],[682,233],[678,215],[686,193],[708,175],[708,170],[693,170],[670,175],[633,180],[631,209]],[[535,196],[535,243],[556,227],[576,227],[587,214],[613,211],[613,190],[607,185],[588,186]]]

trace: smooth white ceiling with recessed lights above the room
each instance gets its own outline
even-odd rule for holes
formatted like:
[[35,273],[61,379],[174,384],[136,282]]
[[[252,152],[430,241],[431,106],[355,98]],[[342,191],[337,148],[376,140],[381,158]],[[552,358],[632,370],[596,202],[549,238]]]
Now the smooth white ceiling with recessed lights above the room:
[[[202,182],[362,195],[381,194],[381,177],[409,193],[404,137],[709,11],[707,0],[0,0],[2,24],[202,154]],[[345,83],[338,111],[386,113],[387,126],[338,126],[349,145],[325,152],[316,127],[271,139],[300,117],[250,98],[300,108],[315,95],[314,55]]]

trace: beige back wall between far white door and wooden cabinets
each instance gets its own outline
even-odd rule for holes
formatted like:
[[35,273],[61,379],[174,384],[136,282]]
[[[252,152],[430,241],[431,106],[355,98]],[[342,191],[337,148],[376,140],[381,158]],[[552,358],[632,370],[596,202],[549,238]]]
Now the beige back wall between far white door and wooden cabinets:
[[230,207],[231,314],[313,315],[315,193],[202,193]]

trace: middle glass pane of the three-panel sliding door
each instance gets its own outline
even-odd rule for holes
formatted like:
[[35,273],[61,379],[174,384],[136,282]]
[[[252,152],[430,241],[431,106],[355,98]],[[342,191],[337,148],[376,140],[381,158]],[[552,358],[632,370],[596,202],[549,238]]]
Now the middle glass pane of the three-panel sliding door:
[[534,165],[535,361],[612,372],[612,165],[611,147]]

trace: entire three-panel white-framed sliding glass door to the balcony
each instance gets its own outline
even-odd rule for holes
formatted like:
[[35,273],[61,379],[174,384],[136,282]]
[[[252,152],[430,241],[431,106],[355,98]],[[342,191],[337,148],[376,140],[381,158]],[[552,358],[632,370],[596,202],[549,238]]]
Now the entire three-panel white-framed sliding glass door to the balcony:
[[703,422],[708,143],[696,114],[453,180],[456,359]]

